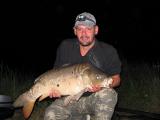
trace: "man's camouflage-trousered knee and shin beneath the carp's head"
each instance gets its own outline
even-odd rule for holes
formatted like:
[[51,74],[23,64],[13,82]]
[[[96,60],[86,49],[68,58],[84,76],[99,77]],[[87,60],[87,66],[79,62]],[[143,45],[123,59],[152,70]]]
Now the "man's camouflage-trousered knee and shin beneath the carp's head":
[[117,103],[117,93],[113,89],[103,89],[95,94],[96,120],[110,120]]

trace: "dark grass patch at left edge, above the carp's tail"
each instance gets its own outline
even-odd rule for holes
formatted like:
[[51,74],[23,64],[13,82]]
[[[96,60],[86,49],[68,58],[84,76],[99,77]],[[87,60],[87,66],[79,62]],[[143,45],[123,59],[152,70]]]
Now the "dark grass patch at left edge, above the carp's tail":
[[10,68],[6,64],[0,64],[0,94],[8,95],[15,99],[28,89],[33,81],[33,73],[25,73],[24,71]]

